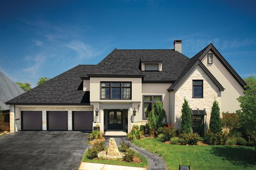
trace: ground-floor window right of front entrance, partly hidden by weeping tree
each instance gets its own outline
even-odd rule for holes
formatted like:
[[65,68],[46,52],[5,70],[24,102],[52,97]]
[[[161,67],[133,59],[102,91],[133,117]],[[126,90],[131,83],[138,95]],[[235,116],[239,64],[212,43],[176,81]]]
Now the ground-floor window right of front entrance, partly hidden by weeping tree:
[[161,95],[143,95],[143,119],[148,118],[148,112],[152,110],[157,101],[161,101]]

